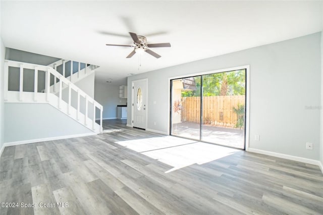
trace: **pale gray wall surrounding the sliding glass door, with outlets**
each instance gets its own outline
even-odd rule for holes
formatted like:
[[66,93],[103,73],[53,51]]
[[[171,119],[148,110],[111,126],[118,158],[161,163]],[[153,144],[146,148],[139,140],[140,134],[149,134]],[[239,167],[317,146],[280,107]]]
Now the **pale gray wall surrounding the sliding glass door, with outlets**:
[[319,32],[130,76],[128,95],[131,81],[147,78],[147,128],[167,132],[170,77],[250,65],[249,147],[318,160],[320,111],[311,107],[320,104],[320,38]]

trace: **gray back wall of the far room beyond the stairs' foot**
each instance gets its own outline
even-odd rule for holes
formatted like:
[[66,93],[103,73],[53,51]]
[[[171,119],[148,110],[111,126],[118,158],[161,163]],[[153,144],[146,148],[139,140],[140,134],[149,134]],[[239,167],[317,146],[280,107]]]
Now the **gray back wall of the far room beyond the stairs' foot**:
[[117,118],[117,105],[127,103],[127,99],[119,98],[119,86],[109,85],[108,83],[95,82],[94,99],[103,106],[103,119]]

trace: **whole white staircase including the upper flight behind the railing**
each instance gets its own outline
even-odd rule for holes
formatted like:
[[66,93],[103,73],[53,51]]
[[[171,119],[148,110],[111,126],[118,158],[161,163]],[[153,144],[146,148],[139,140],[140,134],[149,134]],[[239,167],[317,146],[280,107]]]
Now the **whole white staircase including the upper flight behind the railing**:
[[[72,61],[67,62],[73,65]],[[72,73],[68,75],[65,68],[67,62],[60,60],[51,65],[42,66],[6,60],[5,102],[48,103],[93,132],[102,133],[102,105],[74,84],[93,73],[97,66],[83,64],[82,68],[82,64],[78,63],[78,71],[73,73],[72,66],[70,70]],[[57,71],[59,66],[62,67],[61,73]],[[18,80],[12,80],[13,78],[9,80],[9,72],[13,70],[19,71],[19,89],[10,89],[8,84],[9,81],[18,82]],[[24,73],[28,73],[30,77],[32,72],[33,81],[30,79],[24,81]],[[42,86],[39,87],[39,85]],[[95,122],[98,118],[99,124]]]

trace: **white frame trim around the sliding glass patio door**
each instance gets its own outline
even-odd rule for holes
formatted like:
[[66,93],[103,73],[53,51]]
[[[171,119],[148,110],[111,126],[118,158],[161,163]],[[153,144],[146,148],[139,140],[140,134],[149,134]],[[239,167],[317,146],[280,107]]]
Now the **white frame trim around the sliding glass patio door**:
[[185,78],[185,77],[192,77],[192,76],[199,76],[199,75],[208,75],[212,73],[221,73],[221,72],[228,72],[228,71],[234,71],[234,70],[246,70],[246,113],[245,113],[245,150],[249,150],[249,121],[250,121],[250,65],[244,65],[244,66],[238,66],[238,67],[231,67],[231,68],[226,68],[226,69],[220,69],[220,70],[211,70],[211,71],[205,71],[205,72],[200,72],[200,73],[193,73],[193,74],[185,74],[181,76],[174,76],[174,77],[169,77],[168,78],[168,131],[167,133],[171,135],[171,117],[172,117],[172,105],[171,105],[171,99],[172,99],[172,89],[171,89],[171,81],[173,79],[179,79],[179,78]]

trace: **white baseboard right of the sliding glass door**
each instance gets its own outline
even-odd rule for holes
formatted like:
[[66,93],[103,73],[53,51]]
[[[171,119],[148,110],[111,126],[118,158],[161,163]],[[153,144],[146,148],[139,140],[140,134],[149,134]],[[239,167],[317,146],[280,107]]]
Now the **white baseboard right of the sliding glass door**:
[[[304,157],[298,157],[298,156],[294,156],[294,155],[282,154],[282,153],[277,153],[277,152],[272,152],[272,151],[265,151],[265,150],[256,149],[256,148],[248,148],[248,151],[255,152],[258,154],[265,154],[265,155],[270,155],[270,156],[274,156],[274,157],[280,157],[280,158],[285,158],[285,159],[289,159],[289,160],[294,160],[294,161],[302,162],[302,163],[306,163],[306,164],[316,165],[316,166],[319,166],[320,169],[322,170],[321,162],[319,160],[308,159],[308,158],[304,158]],[[322,173],[323,173],[323,171],[322,171]]]

